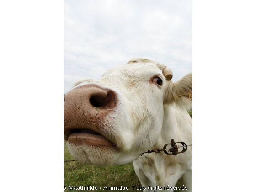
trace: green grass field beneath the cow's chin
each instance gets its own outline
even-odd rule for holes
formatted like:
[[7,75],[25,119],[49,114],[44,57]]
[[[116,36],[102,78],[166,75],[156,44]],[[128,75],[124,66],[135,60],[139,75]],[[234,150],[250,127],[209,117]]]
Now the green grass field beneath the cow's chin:
[[[192,111],[190,112],[190,115],[192,118]],[[74,158],[69,154],[68,149],[64,146],[64,160],[73,159]],[[68,186],[97,186],[97,191],[103,191],[104,186],[124,186],[129,187],[130,191],[142,191],[136,189],[133,190],[134,185],[137,187],[141,187],[141,183],[139,182],[139,179],[135,174],[132,163],[129,163],[127,165],[97,167],[94,165],[82,165],[76,161],[65,162],[64,185],[67,187],[67,189],[64,190],[66,192],[70,192],[70,190],[68,190]],[[176,186],[180,186],[179,182]],[[99,190],[100,187],[101,190]],[[80,192],[81,190],[72,191]]]

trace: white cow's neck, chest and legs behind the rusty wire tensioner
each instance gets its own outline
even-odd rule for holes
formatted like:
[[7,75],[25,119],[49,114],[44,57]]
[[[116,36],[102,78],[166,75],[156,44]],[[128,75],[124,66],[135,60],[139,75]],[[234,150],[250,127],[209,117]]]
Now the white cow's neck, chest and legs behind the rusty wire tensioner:
[[[165,105],[164,114],[162,132],[151,149],[163,149],[171,139],[192,144],[192,119],[187,110]],[[163,152],[143,155],[133,161],[133,166],[146,191],[150,191],[149,186],[175,187],[181,177],[181,187],[184,185],[188,187],[187,191],[192,191],[192,149],[189,147],[185,153],[176,156]]]

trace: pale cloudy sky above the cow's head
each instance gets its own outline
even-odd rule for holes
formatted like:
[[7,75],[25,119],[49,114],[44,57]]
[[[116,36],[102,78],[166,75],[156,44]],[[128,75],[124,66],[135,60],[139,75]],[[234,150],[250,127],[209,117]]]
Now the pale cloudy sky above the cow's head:
[[136,57],[192,71],[192,0],[64,1],[64,93]]

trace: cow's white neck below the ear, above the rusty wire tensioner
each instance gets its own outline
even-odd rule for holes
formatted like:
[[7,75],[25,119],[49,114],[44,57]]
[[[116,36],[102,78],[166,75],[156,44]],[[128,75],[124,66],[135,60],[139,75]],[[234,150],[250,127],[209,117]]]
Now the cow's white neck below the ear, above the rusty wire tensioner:
[[154,148],[162,149],[167,143],[183,141],[192,144],[192,119],[186,109],[175,105],[164,105],[164,122],[158,142]]

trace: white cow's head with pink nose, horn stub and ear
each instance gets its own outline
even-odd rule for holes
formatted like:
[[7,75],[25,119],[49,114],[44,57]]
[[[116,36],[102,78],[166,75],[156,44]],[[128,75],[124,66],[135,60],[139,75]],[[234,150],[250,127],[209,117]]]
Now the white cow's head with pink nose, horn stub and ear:
[[164,104],[188,107],[192,74],[171,81],[172,71],[148,59],[132,59],[107,70],[100,80],[87,78],[66,93],[64,140],[77,160],[122,165],[159,139]]

